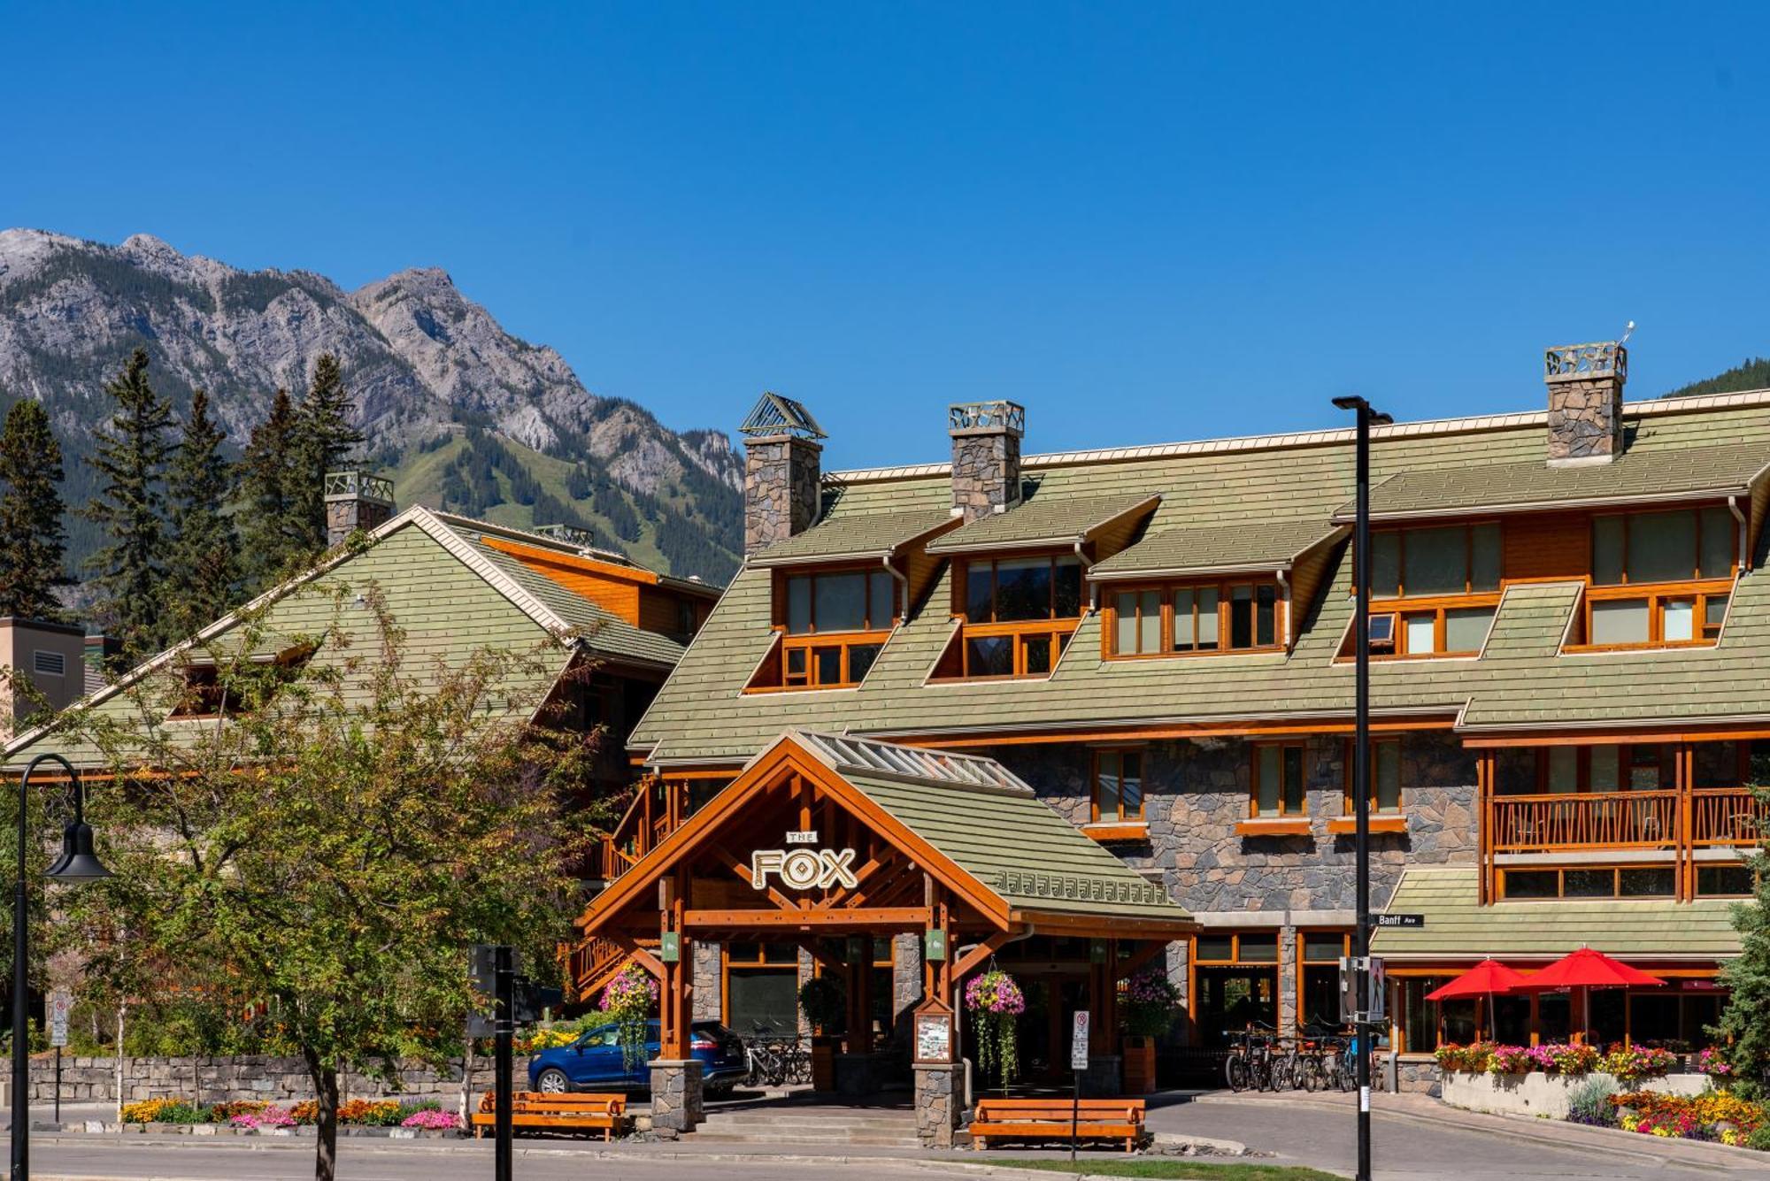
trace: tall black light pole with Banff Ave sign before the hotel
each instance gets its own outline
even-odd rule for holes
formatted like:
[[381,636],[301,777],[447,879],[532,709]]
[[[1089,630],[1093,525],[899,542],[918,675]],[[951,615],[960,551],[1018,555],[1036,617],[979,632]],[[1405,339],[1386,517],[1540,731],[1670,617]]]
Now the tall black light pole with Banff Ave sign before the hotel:
[[1363,398],[1335,398],[1342,410],[1358,412],[1358,520],[1352,527],[1352,576],[1356,606],[1352,636],[1352,815],[1358,847],[1358,926],[1352,930],[1352,962],[1358,981],[1358,1181],[1370,1181],[1370,428],[1393,423],[1372,410]]

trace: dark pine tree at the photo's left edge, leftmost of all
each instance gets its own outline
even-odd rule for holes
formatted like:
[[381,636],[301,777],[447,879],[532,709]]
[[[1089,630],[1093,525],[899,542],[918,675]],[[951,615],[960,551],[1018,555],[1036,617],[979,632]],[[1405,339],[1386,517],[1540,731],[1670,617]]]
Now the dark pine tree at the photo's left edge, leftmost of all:
[[53,587],[65,582],[62,449],[50,415],[25,398],[0,431],[0,615],[62,619]]

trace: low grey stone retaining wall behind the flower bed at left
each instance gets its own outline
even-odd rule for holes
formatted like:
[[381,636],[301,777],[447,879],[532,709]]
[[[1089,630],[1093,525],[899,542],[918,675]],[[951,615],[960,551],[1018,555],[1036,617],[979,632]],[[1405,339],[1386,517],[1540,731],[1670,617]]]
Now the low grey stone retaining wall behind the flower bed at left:
[[[196,1103],[225,1100],[266,1100],[271,1103],[299,1103],[313,1098],[313,1082],[306,1066],[296,1057],[239,1055],[239,1057],[126,1057],[122,1100],[186,1098]],[[527,1086],[529,1059],[515,1055],[517,1086]],[[396,1094],[402,1100],[439,1100],[453,1110],[460,1098],[460,1064],[437,1071],[432,1066],[409,1063],[389,1084],[358,1073],[338,1080],[345,1098],[372,1100]],[[473,1091],[492,1087],[492,1059],[473,1059]],[[55,1057],[30,1059],[32,1100],[50,1101],[55,1094]],[[117,1059],[62,1057],[64,1103],[115,1103]]]

